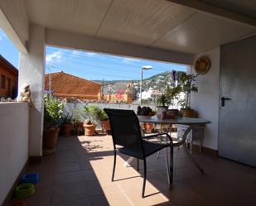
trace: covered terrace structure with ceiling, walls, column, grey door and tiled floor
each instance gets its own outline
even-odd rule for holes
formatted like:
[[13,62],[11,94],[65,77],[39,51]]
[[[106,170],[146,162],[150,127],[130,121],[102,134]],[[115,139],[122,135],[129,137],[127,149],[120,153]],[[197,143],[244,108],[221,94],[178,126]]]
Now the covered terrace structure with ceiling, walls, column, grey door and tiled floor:
[[[34,105],[0,104],[0,204],[27,168],[41,175],[27,205],[254,205],[255,169],[246,165],[256,166],[255,13],[253,1],[1,0],[0,26],[20,51],[19,93],[30,84]],[[127,157],[118,156],[118,180],[110,182],[108,136],[61,137],[56,154],[42,157],[46,46],[173,62],[192,73],[200,56],[210,58],[191,97],[192,108],[212,122],[205,150],[193,154],[205,175],[175,151],[169,190],[164,158],[152,156],[141,199],[142,178],[123,167]]]

